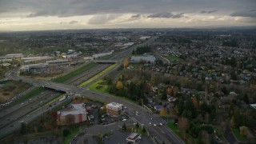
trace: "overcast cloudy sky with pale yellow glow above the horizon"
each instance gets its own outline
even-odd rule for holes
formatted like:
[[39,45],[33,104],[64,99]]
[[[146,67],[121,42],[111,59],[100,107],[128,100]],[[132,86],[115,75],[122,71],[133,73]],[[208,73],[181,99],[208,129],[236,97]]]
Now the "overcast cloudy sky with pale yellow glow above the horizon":
[[256,26],[256,0],[0,0],[0,30]]

